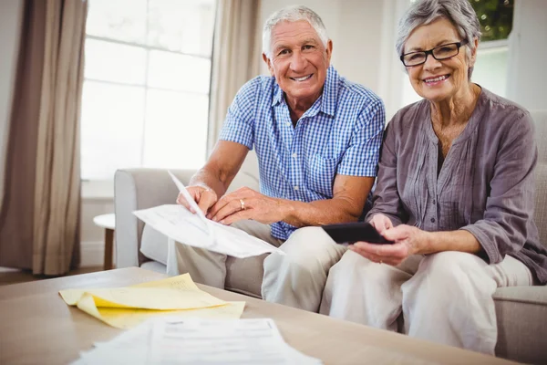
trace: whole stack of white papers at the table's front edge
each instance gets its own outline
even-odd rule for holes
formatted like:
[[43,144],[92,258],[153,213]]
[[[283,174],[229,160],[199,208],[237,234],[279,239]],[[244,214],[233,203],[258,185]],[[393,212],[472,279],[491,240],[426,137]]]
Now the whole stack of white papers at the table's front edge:
[[155,318],[82,352],[83,364],[321,364],[284,342],[270,318]]

